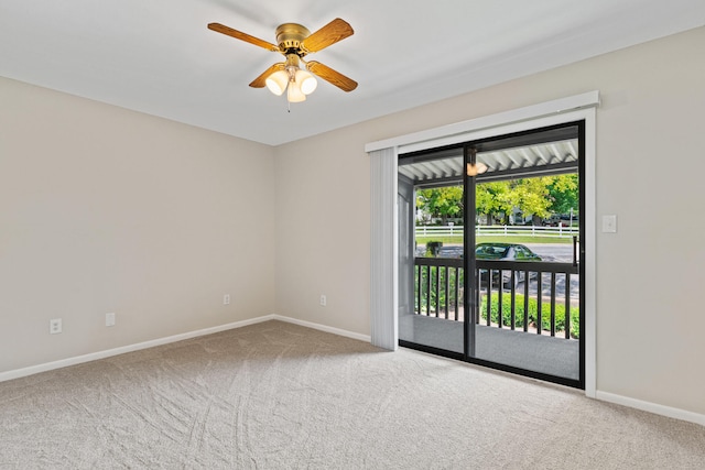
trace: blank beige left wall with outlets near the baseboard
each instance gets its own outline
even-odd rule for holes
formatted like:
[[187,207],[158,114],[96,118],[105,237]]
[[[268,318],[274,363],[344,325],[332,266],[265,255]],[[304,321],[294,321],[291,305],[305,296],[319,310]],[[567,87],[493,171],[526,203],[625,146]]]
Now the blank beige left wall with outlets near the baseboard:
[[273,174],[269,146],[0,78],[0,372],[272,314]]

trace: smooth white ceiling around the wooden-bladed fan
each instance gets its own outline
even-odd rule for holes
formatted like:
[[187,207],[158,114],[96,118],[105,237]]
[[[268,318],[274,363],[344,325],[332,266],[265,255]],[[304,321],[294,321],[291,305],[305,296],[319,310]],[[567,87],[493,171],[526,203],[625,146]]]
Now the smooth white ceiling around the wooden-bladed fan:
[[[291,112],[248,87],[282,56],[206,28],[334,18],[355,34],[311,58],[359,86]],[[704,24],[704,0],[0,0],[0,76],[276,145]]]

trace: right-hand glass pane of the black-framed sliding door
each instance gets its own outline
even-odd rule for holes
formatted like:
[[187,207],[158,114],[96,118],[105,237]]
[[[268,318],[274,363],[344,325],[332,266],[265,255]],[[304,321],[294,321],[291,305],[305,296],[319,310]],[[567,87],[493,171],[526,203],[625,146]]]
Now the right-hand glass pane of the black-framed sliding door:
[[[564,132],[560,141],[539,140],[506,149],[499,140],[478,149],[477,159],[490,171],[520,156],[527,167],[476,178],[478,313],[468,341],[477,359],[579,380],[579,275],[573,263],[577,165],[554,173],[528,165],[556,152],[577,161],[577,128],[572,138]],[[566,155],[571,152],[575,155]]]

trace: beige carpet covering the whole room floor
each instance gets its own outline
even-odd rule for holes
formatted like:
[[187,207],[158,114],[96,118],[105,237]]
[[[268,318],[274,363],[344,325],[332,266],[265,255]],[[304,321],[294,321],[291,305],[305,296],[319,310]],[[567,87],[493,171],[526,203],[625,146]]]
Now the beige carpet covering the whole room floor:
[[703,469],[705,427],[269,321],[0,383],[0,468]]

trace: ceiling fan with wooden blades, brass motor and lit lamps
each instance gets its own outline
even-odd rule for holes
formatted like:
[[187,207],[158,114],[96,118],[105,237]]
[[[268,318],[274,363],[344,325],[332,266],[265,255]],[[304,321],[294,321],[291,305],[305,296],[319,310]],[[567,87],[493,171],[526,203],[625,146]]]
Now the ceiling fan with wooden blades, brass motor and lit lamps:
[[[317,83],[312,74],[335,85],[343,91],[352,91],[357,88],[355,80],[319,62],[303,59],[308,54],[322,51],[352,35],[352,28],[339,18],[336,18],[313,34],[301,24],[281,24],[276,28],[275,32],[278,45],[220,23],[209,23],[208,29],[282,54],[286,59],[269,67],[252,80],[250,86],[253,88],[263,88],[267,86],[274,95],[282,95],[286,90],[286,99],[289,102],[303,101],[306,99],[306,95],[313,92]],[[302,68],[301,64],[303,64],[305,68]]]

